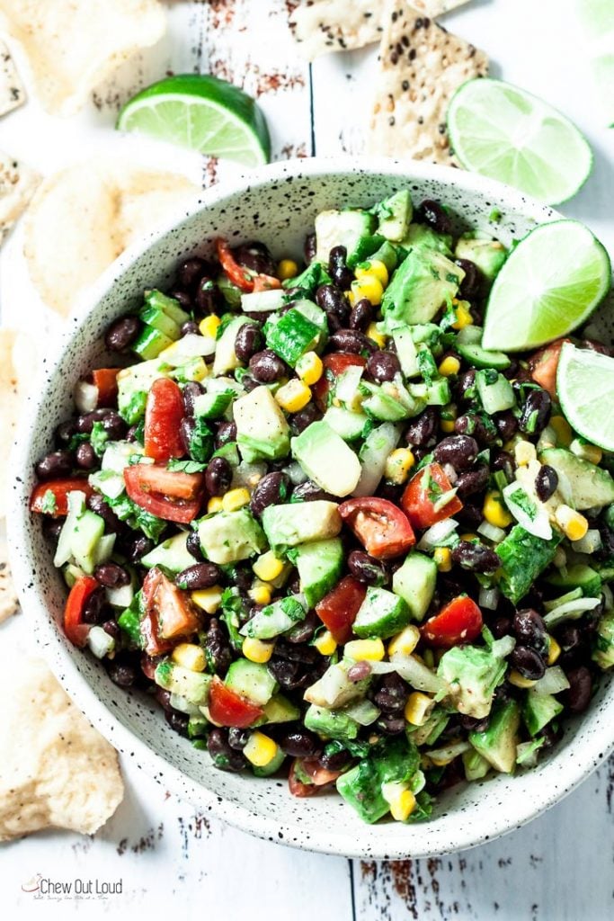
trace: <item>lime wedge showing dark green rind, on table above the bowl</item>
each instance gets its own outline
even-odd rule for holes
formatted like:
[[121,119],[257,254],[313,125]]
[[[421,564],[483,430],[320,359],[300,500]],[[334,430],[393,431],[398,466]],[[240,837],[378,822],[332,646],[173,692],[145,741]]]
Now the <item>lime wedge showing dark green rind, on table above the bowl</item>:
[[154,83],[126,102],[117,127],[247,167],[271,156],[269,129],[256,102],[216,76],[185,74]]

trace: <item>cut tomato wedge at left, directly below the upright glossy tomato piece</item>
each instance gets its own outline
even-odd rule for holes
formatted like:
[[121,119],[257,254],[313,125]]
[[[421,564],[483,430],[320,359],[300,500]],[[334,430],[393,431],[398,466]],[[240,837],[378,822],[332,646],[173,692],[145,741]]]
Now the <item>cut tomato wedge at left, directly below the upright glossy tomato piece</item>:
[[133,502],[157,518],[189,524],[198,515],[202,473],[172,472],[157,464],[137,463],[124,468],[123,480]]

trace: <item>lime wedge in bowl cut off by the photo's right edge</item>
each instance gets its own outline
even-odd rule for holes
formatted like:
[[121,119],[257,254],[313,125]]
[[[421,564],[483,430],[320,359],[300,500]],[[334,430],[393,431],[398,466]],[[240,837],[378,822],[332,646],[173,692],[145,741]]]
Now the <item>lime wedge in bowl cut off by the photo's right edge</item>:
[[556,389],[570,426],[599,448],[614,451],[614,358],[563,344]]

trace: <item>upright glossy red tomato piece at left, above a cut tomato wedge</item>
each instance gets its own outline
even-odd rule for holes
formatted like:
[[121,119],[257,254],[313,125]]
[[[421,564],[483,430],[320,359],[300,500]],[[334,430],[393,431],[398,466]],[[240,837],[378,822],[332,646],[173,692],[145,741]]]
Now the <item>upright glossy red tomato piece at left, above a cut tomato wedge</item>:
[[184,414],[179,384],[170,378],[155,380],[145,406],[145,457],[161,463],[183,457],[180,422]]

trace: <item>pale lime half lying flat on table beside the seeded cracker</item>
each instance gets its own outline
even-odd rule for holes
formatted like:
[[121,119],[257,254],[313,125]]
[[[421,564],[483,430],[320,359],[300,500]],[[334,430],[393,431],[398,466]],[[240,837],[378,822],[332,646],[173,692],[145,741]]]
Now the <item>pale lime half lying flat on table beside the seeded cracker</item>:
[[546,102],[501,80],[469,80],[447,110],[454,153],[465,169],[545,204],[571,198],[588,179],[593,154],[575,125]]

